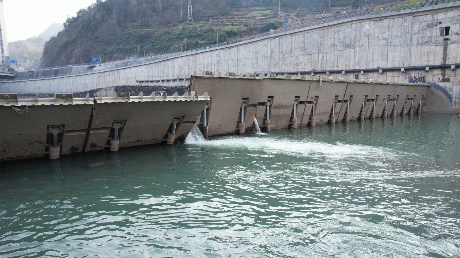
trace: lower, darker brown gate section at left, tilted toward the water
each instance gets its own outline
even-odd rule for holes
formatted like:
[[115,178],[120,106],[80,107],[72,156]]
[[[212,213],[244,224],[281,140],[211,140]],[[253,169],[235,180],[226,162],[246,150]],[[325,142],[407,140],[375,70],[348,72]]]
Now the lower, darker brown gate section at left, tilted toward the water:
[[35,99],[0,93],[0,162],[164,141],[171,145],[185,139],[209,101],[207,93],[197,92],[115,92],[97,98],[56,93]]

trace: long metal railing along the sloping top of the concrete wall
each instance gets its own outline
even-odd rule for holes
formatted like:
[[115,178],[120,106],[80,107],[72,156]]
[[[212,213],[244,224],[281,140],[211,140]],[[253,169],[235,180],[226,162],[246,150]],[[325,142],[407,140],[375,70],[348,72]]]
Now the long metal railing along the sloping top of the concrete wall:
[[[117,68],[122,68],[122,67],[130,67],[130,66],[135,66],[135,65],[141,65],[145,63],[151,63],[159,60],[164,60],[167,58],[175,57],[175,56],[182,56],[182,55],[188,55],[188,54],[194,54],[197,52],[201,51],[207,51],[210,49],[215,49],[218,47],[223,47],[227,45],[233,45],[237,43],[243,43],[247,42],[250,40],[254,39],[266,39],[270,38],[271,36],[274,36],[276,34],[281,34],[281,33],[286,33],[290,31],[295,31],[299,30],[302,28],[309,28],[317,25],[322,25],[322,24],[327,24],[330,22],[338,22],[338,21],[345,21],[351,18],[364,18],[364,17],[370,17],[374,15],[391,15],[393,13],[396,13],[398,11],[404,11],[404,10],[416,10],[421,7],[426,7],[426,6],[435,6],[439,4],[445,4],[445,3],[453,3],[457,2],[460,0],[430,0],[430,1],[423,1],[423,2],[418,2],[418,3],[413,3],[413,4],[407,4],[407,5],[400,5],[400,6],[392,6],[392,7],[385,7],[385,8],[380,8],[380,9],[374,9],[374,10],[367,10],[367,11],[359,11],[355,13],[349,13],[346,15],[341,15],[341,16],[336,16],[336,17],[328,17],[325,19],[321,19],[315,22],[307,22],[304,24],[299,24],[296,26],[290,26],[286,28],[281,28],[272,32],[267,32],[267,33],[262,33],[262,34],[257,34],[249,37],[245,37],[242,39],[235,39],[231,40],[228,42],[223,42],[219,44],[214,44],[214,45],[209,45],[193,50],[187,50],[187,51],[182,51],[182,52],[176,52],[176,53],[170,53],[170,54],[164,54],[164,55],[158,55],[158,56],[147,56],[147,57],[139,57],[139,58],[129,58],[125,60],[119,60],[119,61],[113,61],[113,62],[105,62],[105,63],[88,63],[85,64],[87,66],[95,66],[96,68],[87,70],[87,71],[79,71],[79,72],[73,72],[73,73],[61,73],[61,74],[56,74],[56,75],[46,75],[46,76],[39,76],[39,77],[29,77],[29,78],[22,78],[22,79],[4,79],[0,81],[17,81],[17,80],[26,80],[26,79],[46,79],[46,78],[55,78],[55,77],[62,77],[62,76],[72,76],[72,75],[83,75],[87,73],[99,73],[99,72],[104,72],[107,70],[112,70],[112,69],[117,69]],[[74,65],[74,67],[78,67],[79,65]],[[81,66],[81,65],[80,65]],[[46,70],[46,69],[57,69],[57,68],[66,68],[69,66],[61,66],[61,67],[46,67],[46,68],[40,68],[37,70]]]

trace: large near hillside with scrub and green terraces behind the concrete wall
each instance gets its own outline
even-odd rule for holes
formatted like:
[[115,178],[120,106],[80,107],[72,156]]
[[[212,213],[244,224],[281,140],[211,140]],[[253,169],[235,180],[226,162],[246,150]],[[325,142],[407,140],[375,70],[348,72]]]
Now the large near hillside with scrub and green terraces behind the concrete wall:
[[63,31],[46,42],[40,66],[90,62],[92,57],[104,62],[190,50],[280,28],[286,17],[305,17],[307,22],[326,10],[339,15],[351,10],[351,4],[363,4],[361,0],[192,2],[193,22],[187,22],[188,0],[97,0],[78,11],[76,17],[69,17]]

